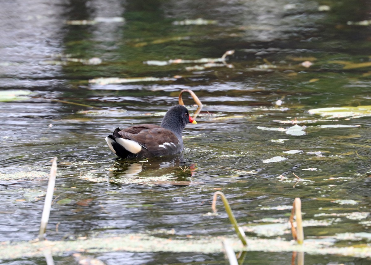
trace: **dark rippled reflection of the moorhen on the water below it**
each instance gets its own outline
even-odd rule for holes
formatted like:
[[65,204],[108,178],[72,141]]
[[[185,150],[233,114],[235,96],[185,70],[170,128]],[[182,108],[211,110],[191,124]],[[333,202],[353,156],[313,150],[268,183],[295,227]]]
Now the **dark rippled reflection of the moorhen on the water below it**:
[[149,158],[145,161],[128,162],[117,159],[114,168],[111,171],[112,177],[118,183],[140,184],[187,185],[196,171],[195,164],[184,163],[183,154]]

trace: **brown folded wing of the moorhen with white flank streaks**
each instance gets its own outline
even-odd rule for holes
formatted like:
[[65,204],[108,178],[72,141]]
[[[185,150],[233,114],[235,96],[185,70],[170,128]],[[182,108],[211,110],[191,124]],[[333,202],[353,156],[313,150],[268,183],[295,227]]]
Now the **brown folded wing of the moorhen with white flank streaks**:
[[178,137],[173,132],[162,127],[143,129],[137,134],[120,131],[121,137],[136,141],[148,150],[152,156],[178,154],[183,151]]

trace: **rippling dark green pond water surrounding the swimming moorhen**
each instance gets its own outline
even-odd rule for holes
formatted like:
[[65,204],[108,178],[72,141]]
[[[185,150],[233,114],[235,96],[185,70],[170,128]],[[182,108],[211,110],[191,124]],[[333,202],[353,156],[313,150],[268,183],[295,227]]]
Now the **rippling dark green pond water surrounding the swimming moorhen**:
[[[252,227],[286,223],[300,197],[312,222],[305,239],[370,246],[370,118],[309,112],[371,105],[370,11],[355,0],[2,3],[0,242],[37,237],[50,160],[58,157],[50,241],[234,235],[221,203],[219,215],[207,215],[219,190],[247,236],[290,241],[288,229]],[[227,50],[235,52],[224,63],[206,60],[214,65],[170,61]],[[182,89],[204,104],[184,130],[183,154],[117,159],[104,138],[116,127],[160,124]],[[193,100],[183,99],[193,113]],[[285,131],[295,121],[306,126],[303,135]],[[273,157],[286,159],[267,163]],[[78,264],[72,252],[55,263]],[[247,255],[245,264],[291,261],[289,252]],[[226,264],[223,253],[202,251],[90,256],[106,264]],[[307,254],[305,264],[368,264],[365,256]],[[1,258],[45,264],[32,255]]]

